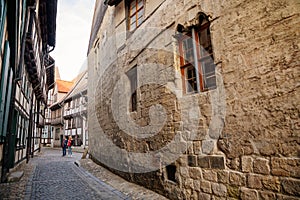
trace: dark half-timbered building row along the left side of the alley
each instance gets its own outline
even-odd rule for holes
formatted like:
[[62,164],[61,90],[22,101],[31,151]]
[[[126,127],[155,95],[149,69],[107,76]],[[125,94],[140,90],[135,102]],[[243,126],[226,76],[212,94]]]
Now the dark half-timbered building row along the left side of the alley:
[[54,83],[57,2],[0,1],[1,182],[40,149],[47,93]]

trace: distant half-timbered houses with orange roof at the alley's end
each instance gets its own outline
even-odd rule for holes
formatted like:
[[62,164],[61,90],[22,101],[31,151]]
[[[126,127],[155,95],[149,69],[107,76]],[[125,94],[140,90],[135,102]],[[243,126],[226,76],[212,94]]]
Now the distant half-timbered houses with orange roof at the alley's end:
[[59,147],[64,136],[72,136],[74,146],[87,147],[87,71],[72,81],[56,79],[51,95],[52,146]]

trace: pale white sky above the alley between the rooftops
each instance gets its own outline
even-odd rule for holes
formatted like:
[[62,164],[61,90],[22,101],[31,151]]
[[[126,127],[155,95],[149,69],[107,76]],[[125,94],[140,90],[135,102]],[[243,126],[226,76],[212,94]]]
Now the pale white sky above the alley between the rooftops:
[[57,1],[56,46],[50,55],[62,80],[74,79],[87,65],[95,0]]

